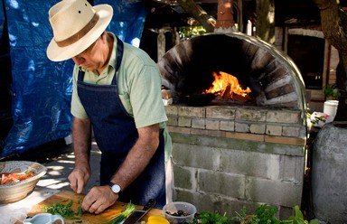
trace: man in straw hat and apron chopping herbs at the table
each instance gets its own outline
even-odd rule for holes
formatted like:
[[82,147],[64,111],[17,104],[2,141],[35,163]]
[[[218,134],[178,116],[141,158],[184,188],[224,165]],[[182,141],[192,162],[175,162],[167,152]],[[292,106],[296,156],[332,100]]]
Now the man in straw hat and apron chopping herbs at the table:
[[105,31],[112,15],[110,5],[91,6],[87,0],[64,0],[49,12],[54,37],[48,58],[75,62],[70,187],[81,193],[89,180],[93,132],[102,152],[100,186],[88,192],[81,208],[98,214],[116,201],[145,205],[155,198],[161,209],[171,201],[172,186],[165,174],[171,138],[161,74],[145,51]]

